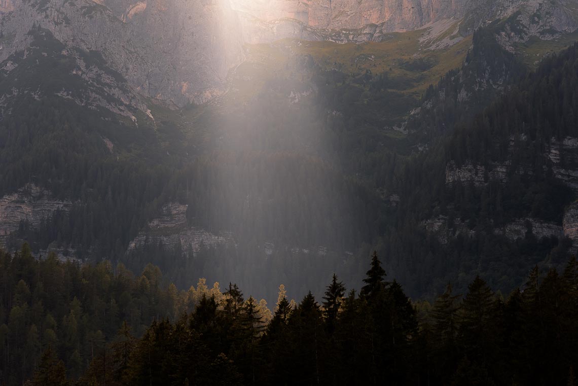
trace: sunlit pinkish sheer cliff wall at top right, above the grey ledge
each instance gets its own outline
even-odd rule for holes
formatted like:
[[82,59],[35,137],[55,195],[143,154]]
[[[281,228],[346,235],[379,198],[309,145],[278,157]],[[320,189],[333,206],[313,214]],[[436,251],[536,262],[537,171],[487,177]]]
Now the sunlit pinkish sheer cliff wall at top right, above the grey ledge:
[[311,27],[329,29],[378,24],[386,32],[419,29],[427,24],[463,17],[473,22],[471,27],[478,27],[488,20],[508,17],[516,12],[520,12],[520,16],[537,12],[549,14],[546,23],[556,23],[560,27],[561,23],[569,23],[575,9],[575,3],[568,0],[516,0],[507,3],[492,0],[236,0],[233,6],[264,21],[292,18]]

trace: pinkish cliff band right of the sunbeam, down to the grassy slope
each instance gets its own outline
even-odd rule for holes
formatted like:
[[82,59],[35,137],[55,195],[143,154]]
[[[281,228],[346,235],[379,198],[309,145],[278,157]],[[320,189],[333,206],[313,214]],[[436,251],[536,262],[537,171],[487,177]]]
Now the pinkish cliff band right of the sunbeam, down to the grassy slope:
[[531,36],[552,38],[573,32],[576,2],[479,0],[237,0],[244,40],[251,43],[280,38],[332,40],[336,42],[381,41],[387,34],[426,29],[442,44],[451,44],[495,20],[512,18],[513,28],[502,35],[526,41]]

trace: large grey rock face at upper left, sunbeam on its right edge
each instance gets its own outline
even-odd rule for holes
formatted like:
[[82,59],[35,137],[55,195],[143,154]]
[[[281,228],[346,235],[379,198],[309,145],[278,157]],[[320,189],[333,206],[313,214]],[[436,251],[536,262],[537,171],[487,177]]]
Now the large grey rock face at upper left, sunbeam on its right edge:
[[140,94],[176,106],[224,90],[243,60],[238,16],[228,0],[0,0],[0,60],[31,41],[33,26],[71,47],[102,54]]

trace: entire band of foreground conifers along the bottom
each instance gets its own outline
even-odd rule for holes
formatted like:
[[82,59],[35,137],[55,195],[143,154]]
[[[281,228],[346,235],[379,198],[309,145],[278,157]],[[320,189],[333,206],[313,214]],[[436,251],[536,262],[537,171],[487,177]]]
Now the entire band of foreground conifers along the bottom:
[[576,385],[574,257],[507,298],[476,277],[430,304],[374,253],[359,292],[335,274],[320,302],[280,287],[273,314],[235,284],[179,295],[152,267],[132,278],[27,246],[0,261],[6,385]]

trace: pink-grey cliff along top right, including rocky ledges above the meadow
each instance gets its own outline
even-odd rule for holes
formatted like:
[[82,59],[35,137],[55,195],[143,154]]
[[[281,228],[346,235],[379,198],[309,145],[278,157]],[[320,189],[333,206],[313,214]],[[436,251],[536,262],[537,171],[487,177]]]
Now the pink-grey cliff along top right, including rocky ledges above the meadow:
[[[515,39],[525,40],[545,31],[555,34],[555,31],[576,29],[575,0],[557,3],[539,0],[236,0],[233,5],[244,18],[251,20],[249,27],[253,28],[249,29],[257,36],[267,28],[255,20],[275,21],[271,29],[277,36],[300,37],[304,32],[305,35],[309,33],[299,24],[318,30],[360,29],[375,24],[378,32],[386,34],[464,18],[460,31],[470,34],[480,25],[514,14],[513,25],[523,27],[524,32],[520,34],[511,28],[503,36],[505,40],[512,38],[507,36],[510,33],[516,34]],[[374,31],[372,35],[380,34]],[[255,39],[255,36],[251,38]]]

